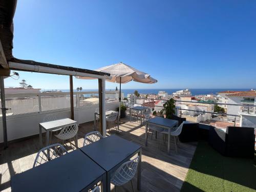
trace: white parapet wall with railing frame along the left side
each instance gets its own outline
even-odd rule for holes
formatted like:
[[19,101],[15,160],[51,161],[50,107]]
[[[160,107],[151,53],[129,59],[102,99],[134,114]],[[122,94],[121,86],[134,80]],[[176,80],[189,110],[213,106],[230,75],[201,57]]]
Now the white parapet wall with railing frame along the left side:
[[[83,106],[79,106],[78,98],[79,94],[98,94],[98,92],[79,92],[74,93],[76,95],[76,101],[74,102],[74,118],[75,120],[81,124],[84,122],[89,122],[94,120],[94,112],[96,108],[98,108],[97,104],[87,104]],[[116,94],[116,92],[106,92],[108,94]],[[32,113],[24,113],[24,114],[10,114],[7,116],[7,135],[8,141],[14,139],[20,139],[32,135],[36,135],[39,133],[38,124],[44,121],[44,118],[47,114],[54,114],[57,118],[70,118],[70,107],[56,110],[48,110],[42,111],[40,105],[40,97],[41,96],[60,96],[60,95],[69,95],[69,93],[61,92],[61,93],[39,93],[39,94],[8,94],[6,98],[24,98],[24,97],[38,97],[39,106],[37,112]],[[19,102],[19,101],[18,101]],[[114,110],[116,111],[119,106],[118,98],[116,100],[110,99],[106,97],[105,108],[106,110]],[[2,118],[0,118],[0,143],[3,142],[3,123]]]

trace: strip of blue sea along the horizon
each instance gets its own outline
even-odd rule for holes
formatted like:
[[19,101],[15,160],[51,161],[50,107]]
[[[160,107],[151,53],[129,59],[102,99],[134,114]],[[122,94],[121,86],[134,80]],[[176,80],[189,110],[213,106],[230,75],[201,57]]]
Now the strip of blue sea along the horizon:
[[[62,92],[69,92],[69,90],[65,89],[65,90],[61,90],[58,89],[59,91]],[[106,91],[114,91],[115,89],[106,89]],[[124,93],[124,97],[127,96],[127,94],[131,94],[134,93],[134,91],[137,90],[139,93],[141,94],[158,94],[159,91],[165,91],[168,94],[172,94],[176,91],[179,90],[183,90],[181,89],[121,89],[121,92]],[[195,95],[206,95],[206,94],[217,94],[218,92],[221,91],[249,91],[251,90],[251,88],[248,89],[189,89],[189,91],[191,92],[191,95],[195,96]],[[255,90],[255,89],[253,89]],[[51,91],[51,90],[42,90],[42,91]],[[98,91],[97,89],[83,89],[82,91]],[[76,92],[76,90],[74,90],[74,92]]]

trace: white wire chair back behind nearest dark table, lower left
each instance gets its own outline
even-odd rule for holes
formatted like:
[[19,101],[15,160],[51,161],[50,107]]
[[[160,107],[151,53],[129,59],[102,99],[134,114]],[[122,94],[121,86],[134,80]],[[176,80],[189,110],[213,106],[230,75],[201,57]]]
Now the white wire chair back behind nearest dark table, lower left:
[[67,150],[59,143],[55,143],[44,148],[41,148],[36,155],[33,167],[46,163],[50,160],[56,159],[62,155],[67,154]]

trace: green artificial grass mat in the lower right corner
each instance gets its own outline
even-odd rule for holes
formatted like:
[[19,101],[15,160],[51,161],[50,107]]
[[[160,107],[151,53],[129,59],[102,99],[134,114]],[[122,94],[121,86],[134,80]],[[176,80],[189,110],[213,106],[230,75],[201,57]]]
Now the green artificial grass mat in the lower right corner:
[[224,157],[200,141],[181,191],[256,191],[254,161]]

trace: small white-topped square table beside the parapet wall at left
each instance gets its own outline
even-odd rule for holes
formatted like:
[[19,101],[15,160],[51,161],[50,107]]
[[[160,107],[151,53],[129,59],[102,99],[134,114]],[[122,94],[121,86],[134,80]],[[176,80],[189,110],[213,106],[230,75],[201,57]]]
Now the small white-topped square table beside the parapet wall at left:
[[[61,128],[63,126],[67,126],[67,125],[70,125],[73,123],[77,123],[77,122],[72,119],[69,119],[69,118],[39,123],[39,141],[40,141],[41,146],[43,146],[42,145],[42,129],[44,129],[46,131],[46,146],[48,146],[50,131],[56,130],[58,128]],[[77,146],[77,134],[76,134],[76,147],[78,147]]]

